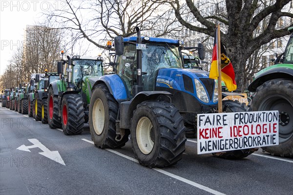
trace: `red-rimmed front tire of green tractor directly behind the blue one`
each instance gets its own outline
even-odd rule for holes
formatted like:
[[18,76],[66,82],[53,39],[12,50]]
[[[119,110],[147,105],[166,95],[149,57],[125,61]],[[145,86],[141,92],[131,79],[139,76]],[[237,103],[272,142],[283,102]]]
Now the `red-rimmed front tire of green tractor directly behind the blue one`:
[[80,94],[66,94],[62,98],[62,129],[65,135],[84,131],[84,102]]

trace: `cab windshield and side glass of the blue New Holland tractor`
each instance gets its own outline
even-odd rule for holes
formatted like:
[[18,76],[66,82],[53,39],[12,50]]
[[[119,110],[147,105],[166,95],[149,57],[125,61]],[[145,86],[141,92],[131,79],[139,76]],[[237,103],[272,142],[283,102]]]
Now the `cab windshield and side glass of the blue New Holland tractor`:
[[[155,87],[155,75],[161,68],[183,68],[179,57],[178,47],[167,43],[146,44],[146,50],[142,50],[142,81],[145,91],[153,91]],[[125,82],[128,92],[136,83],[136,45],[125,44],[124,54],[118,57],[117,74]]]

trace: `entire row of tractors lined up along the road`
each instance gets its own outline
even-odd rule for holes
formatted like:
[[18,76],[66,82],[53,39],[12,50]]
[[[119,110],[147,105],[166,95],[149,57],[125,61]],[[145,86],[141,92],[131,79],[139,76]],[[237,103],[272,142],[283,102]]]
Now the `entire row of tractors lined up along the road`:
[[[147,167],[177,163],[186,137],[197,137],[197,115],[217,113],[218,98],[229,94],[218,97],[218,83],[209,72],[184,65],[182,50],[196,49],[203,60],[203,44],[184,47],[180,40],[141,37],[136,30],[137,37],[114,39],[114,74],[104,75],[102,57],[67,56],[57,63],[57,73],[36,74],[24,89],[20,86],[7,98],[6,107],[62,128],[65,135],[82,133],[88,122],[99,148],[123,147],[130,135],[136,158]],[[291,36],[284,57],[249,86],[256,91],[250,108],[223,100],[223,112],[279,111],[280,144],[263,148],[272,155],[293,156],[292,40]],[[256,150],[212,155],[235,159]]]

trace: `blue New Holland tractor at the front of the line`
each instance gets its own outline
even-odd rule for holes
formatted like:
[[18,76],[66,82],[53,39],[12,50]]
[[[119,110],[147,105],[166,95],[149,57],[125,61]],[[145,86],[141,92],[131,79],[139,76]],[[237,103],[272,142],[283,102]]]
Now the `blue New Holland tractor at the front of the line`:
[[[186,133],[196,136],[197,114],[217,113],[217,82],[209,73],[183,66],[183,42],[141,37],[114,39],[116,74],[99,78],[92,88],[89,127],[99,148],[120,148],[130,134],[140,164],[166,167],[185,151]],[[199,58],[205,49],[198,46]],[[223,101],[224,112],[245,112],[244,104]],[[254,149],[214,153],[242,158]]]

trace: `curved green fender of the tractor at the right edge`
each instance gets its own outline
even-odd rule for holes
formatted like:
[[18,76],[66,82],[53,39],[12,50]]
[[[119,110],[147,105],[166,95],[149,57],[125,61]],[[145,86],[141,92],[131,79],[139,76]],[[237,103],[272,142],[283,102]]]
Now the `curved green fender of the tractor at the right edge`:
[[[271,68],[271,67],[268,67]],[[276,67],[268,69],[267,71],[261,72],[257,75],[251,84],[248,86],[248,90],[255,92],[256,88],[262,85],[264,82],[276,78],[288,78],[293,79],[293,69],[288,67]]]

